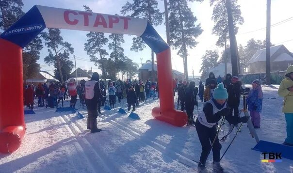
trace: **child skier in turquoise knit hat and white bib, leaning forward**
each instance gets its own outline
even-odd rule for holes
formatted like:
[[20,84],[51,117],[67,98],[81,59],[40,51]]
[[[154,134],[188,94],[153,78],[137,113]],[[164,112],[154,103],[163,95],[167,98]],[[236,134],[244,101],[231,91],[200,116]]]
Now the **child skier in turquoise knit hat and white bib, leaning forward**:
[[[213,169],[218,172],[223,171],[220,165],[220,150],[222,146],[218,136],[216,136],[216,123],[221,117],[225,117],[225,119],[233,125],[237,125],[240,122],[247,122],[247,117],[245,116],[241,118],[230,116],[230,110],[226,105],[227,98],[228,93],[226,88],[224,88],[223,83],[219,83],[218,87],[213,91],[212,99],[204,103],[203,112],[200,113],[196,119],[196,132],[202,146],[200,162],[198,164],[200,169],[205,167],[206,160],[212,150]],[[213,143],[213,145],[211,143]]]

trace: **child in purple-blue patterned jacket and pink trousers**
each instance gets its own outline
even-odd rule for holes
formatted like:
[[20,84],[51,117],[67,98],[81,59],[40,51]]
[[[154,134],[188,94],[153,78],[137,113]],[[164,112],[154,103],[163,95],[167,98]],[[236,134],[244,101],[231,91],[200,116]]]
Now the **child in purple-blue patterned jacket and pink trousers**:
[[262,90],[260,80],[253,80],[252,90],[246,98],[248,110],[250,111],[251,122],[254,128],[260,128],[260,112],[262,108]]

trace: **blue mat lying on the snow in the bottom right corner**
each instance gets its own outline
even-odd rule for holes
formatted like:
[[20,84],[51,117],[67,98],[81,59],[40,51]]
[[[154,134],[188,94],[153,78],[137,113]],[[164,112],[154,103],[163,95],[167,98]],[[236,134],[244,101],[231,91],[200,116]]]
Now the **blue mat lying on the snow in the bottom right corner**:
[[293,160],[293,146],[283,145],[279,143],[260,141],[255,145],[253,150],[260,152],[282,153],[281,157]]

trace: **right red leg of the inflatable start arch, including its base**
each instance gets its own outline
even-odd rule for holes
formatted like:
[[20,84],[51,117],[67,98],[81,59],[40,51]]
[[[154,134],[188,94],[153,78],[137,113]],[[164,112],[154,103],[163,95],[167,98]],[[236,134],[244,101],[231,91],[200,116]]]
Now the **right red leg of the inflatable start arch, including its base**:
[[[152,110],[157,120],[170,123],[174,126],[184,126],[188,117],[185,112],[174,109],[172,65],[170,48],[157,54],[158,80],[160,91],[160,107]],[[162,88],[163,87],[163,88]]]

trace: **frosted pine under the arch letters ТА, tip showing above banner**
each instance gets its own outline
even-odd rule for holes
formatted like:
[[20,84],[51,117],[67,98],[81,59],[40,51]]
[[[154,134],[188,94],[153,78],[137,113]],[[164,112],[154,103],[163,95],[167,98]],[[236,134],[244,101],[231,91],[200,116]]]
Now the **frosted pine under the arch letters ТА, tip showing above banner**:
[[[83,8],[86,12],[92,13],[92,10],[88,6],[83,5]],[[102,60],[105,56],[109,55],[107,50],[103,49],[103,46],[108,43],[108,38],[105,38],[105,34],[103,32],[89,32],[86,36],[88,39],[87,43],[84,44],[84,50],[90,56],[91,62],[94,62],[96,66],[99,64],[99,68],[102,70],[102,79],[106,80],[104,64],[106,62],[98,61],[98,57],[99,60]]]

